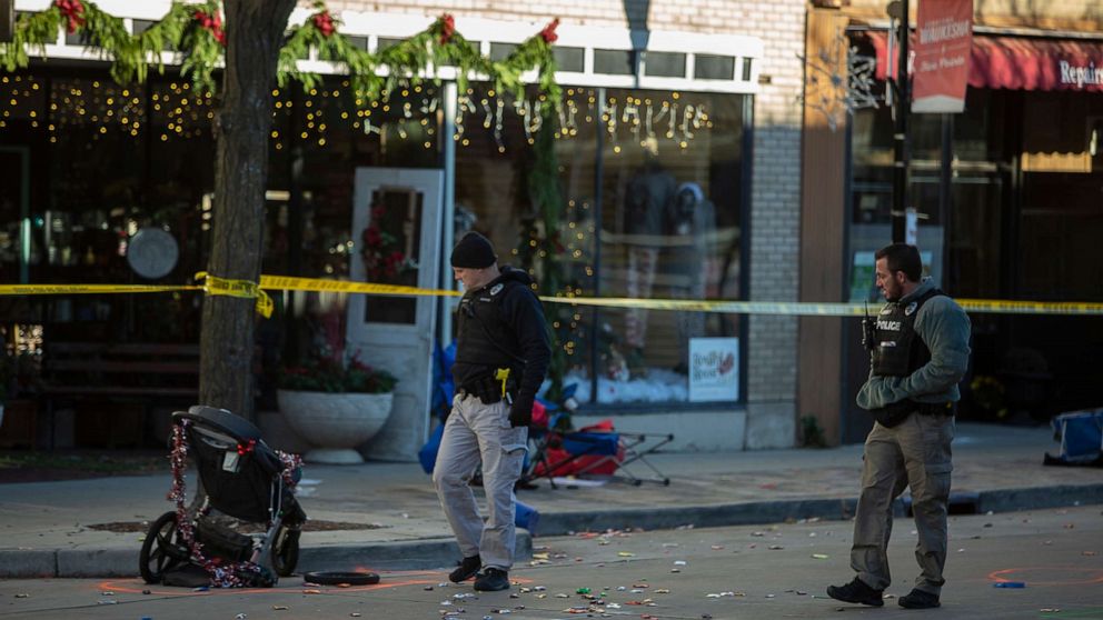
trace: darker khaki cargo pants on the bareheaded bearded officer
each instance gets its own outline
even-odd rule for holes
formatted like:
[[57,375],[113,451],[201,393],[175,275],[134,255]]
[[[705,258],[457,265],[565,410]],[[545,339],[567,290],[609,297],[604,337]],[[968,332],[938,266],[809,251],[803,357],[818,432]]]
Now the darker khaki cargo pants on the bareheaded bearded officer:
[[873,424],[865,440],[862,494],[851,549],[851,568],[871,588],[884,590],[892,583],[887,553],[892,507],[904,489],[911,488],[918,533],[915,560],[921,569],[915,588],[941,594],[954,427],[953,416],[921,413],[912,413],[893,428]]

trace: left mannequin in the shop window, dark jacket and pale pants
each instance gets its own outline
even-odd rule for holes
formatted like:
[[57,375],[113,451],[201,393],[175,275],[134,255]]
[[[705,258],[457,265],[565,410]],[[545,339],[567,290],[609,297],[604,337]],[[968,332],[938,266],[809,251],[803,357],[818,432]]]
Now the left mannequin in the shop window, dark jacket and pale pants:
[[[666,213],[670,208],[678,183],[658,161],[658,140],[647,138],[644,143],[644,166],[628,181],[625,196],[625,224],[628,244],[628,297],[652,297],[658,251],[669,233]],[[625,312],[625,346],[629,367],[638,368],[647,334],[647,311],[629,308]]]

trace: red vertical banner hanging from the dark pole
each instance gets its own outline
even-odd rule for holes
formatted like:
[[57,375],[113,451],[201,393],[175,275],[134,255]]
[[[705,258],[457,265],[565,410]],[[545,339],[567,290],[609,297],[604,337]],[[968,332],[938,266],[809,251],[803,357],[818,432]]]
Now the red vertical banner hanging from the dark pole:
[[960,113],[965,109],[973,0],[920,0],[912,111]]

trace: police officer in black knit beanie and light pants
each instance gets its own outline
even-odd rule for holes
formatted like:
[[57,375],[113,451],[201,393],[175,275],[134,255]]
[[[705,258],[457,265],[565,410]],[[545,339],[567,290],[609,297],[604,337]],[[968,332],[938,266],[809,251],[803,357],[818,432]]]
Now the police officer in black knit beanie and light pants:
[[[465,290],[456,316],[456,398],[433,470],[440,506],[464,553],[448,578],[459,583],[477,574],[476,590],[506,590],[514,560],[514,484],[552,352],[544,308],[528,273],[499,268],[490,241],[477,232],[456,244],[451,267]],[[469,484],[480,460],[485,523]]]

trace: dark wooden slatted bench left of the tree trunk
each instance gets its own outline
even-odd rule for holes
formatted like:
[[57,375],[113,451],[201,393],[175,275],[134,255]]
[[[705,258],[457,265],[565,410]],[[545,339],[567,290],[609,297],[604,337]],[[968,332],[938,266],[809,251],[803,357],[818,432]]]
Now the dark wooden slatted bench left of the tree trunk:
[[193,404],[199,394],[199,346],[48,341],[42,382],[52,450],[59,403],[130,402],[140,404],[143,413],[165,401]]

